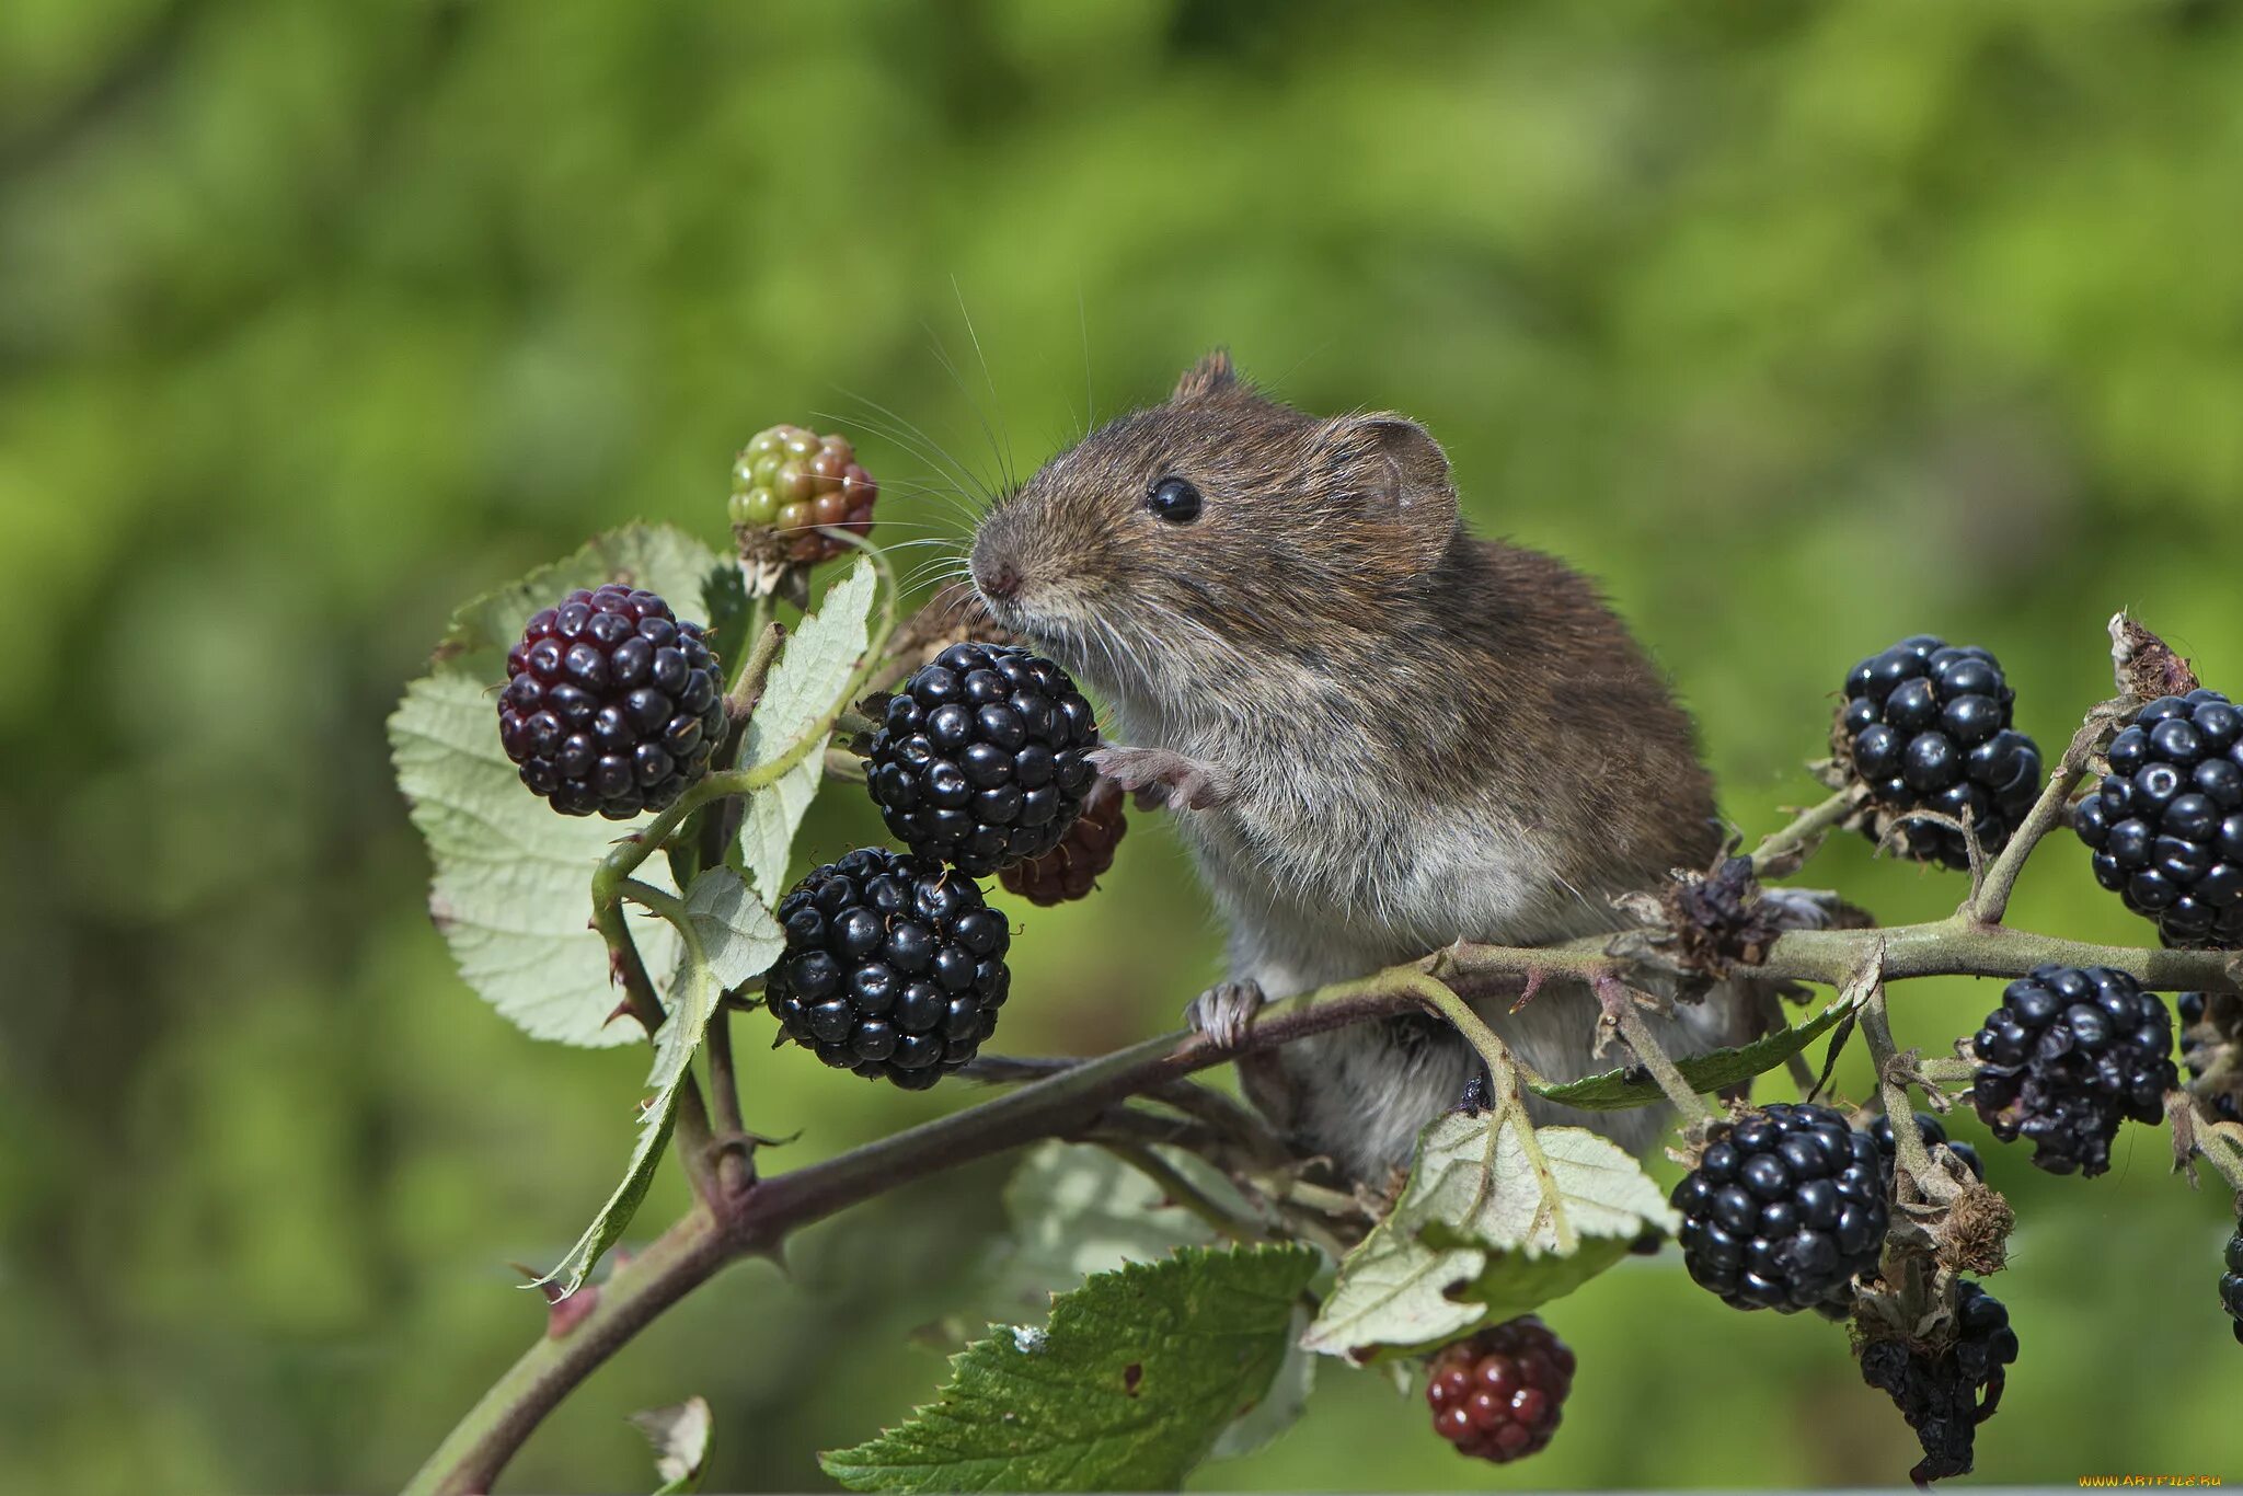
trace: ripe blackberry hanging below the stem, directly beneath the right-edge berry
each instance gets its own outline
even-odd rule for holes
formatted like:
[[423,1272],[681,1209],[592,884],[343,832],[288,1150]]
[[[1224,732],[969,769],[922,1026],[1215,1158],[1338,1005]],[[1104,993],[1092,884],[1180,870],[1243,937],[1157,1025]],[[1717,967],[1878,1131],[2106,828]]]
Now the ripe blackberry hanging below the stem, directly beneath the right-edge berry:
[[2164,1117],[2171,1050],[2173,1016],[2124,971],[2034,967],[1972,1038],[1972,1103],[1994,1137],[2032,1139],[2048,1173],[2097,1175],[2120,1121]]

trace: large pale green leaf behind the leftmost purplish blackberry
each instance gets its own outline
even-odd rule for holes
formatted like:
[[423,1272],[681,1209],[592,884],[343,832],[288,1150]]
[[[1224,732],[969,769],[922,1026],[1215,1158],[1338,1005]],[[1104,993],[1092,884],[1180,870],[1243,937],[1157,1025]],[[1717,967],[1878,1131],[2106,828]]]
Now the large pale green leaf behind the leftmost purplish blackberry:
[[[435,666],[406,686],[390,715],[390,754],[435,877],[428,913],[469,987],[534,1038],[621,1045],[641,1038],[610,1023],[617,994],[608,946],[585,929],[590,879],[608,846],[639,823],[554,814],[523,789],[498,747],[498,686],[523,621],[572,588],[633,581],[693,615],[702,581],[722,565],[675,529],[621,529],[567,561],[467,603]],[[650,861],[641,877],[668,888]],[[641,933],[650,971],[677,960],[666,926]]]

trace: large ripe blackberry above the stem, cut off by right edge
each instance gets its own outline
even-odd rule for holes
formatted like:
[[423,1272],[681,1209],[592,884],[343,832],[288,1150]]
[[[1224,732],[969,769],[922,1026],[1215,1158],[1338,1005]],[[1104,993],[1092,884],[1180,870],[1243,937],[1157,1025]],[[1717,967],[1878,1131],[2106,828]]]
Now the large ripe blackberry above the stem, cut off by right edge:
[[2243,946],[2243,711],[2218,691],[2162,695],[2108,760],[2073,821],[2095,881],[2169,946]]

